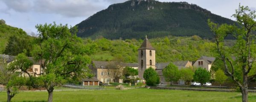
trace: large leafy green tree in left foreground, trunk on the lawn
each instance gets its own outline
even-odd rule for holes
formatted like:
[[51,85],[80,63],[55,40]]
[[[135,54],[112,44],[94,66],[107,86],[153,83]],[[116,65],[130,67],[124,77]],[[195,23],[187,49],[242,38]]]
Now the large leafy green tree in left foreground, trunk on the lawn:
[[91,52],[87,52],[81,39],[76,36],[76,28],[67,25],[40,24],[38,38],[35,39],[32,55],[40,62],[41,86],[48,91],[48,102],[52,102],[53,90],[68,78],[81,79],[89,70],[87,63]]

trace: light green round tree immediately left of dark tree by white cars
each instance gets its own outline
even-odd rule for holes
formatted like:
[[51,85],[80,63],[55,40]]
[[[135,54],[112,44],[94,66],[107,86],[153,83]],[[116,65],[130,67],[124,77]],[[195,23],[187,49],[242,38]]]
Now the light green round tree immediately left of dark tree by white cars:
[[180,69],[180,79],[183,79],[186,82],[191,82],[193,79],[194,72],[190,68]]

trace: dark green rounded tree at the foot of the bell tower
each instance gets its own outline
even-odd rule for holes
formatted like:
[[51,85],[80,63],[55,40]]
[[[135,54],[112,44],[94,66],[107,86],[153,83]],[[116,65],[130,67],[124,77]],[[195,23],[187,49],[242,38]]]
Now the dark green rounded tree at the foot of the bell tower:
[[160,83],[160,78],[152,67],[144,71],[143,78],[146,80],[148,86],[156,86]]

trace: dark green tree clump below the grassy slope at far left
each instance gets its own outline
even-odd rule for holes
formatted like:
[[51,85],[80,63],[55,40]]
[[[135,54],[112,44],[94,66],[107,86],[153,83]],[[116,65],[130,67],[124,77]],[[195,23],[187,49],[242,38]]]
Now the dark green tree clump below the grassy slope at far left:
[[8,40],[8,44],[6,46],[6,49],[4,50],[4,54],[17,56],[18,54],[23,53],[24,50],[26,50],[26,56],[31,56],[31,41],[32,39],[30,37],[16,37],[16,35],[13,35]]

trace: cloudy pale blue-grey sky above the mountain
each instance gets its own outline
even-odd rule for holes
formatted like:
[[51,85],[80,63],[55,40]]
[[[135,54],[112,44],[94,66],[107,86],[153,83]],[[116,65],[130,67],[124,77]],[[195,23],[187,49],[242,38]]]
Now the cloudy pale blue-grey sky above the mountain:
[[[37,24],[68,24],[75,26],[98,11],[114,3],[127,0],[0,0],[0,19],[7,25],[22,28],[27,34],[37,34]],[[256,11],[256,0],[158,0],[160,2],[188,2],[211,11],[213,14],[231,17],[235,9],[248,6]]]

